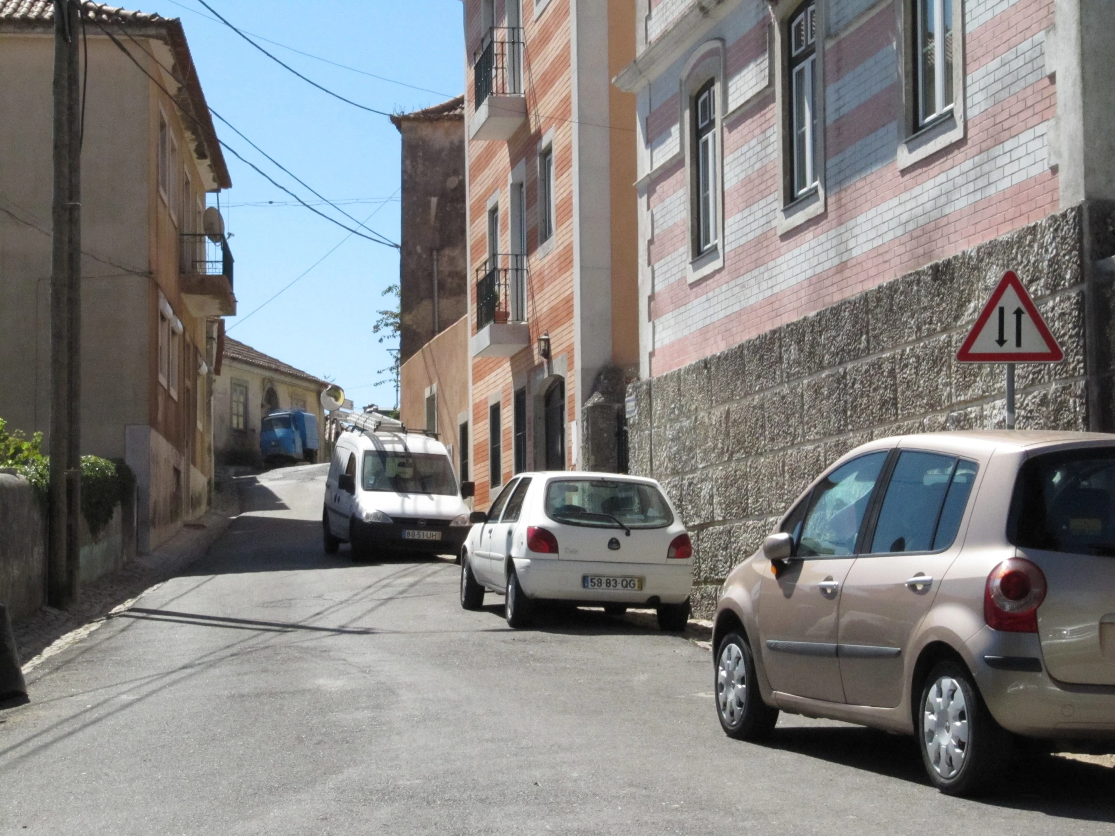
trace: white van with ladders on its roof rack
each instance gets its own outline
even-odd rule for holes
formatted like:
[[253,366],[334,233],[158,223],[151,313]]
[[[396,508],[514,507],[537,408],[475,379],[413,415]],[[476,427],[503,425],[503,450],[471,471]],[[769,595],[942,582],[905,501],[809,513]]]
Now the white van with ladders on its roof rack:
[[353,558],[391,550],[459,554],[473,483],[458,486],[445,445],[396,421],[365,426],[341,432],[333,449],[321,519],[326,554],[341,543]]

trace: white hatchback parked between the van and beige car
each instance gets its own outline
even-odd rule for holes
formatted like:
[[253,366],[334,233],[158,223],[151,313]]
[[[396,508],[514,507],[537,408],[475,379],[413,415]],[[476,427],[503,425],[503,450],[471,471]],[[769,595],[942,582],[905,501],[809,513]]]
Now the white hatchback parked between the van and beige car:
[[504,486],[462,550],[460,605],[506,596],[513,628],[534,603],[564,601],[623,613],[655,607],[662,630],[683,630],[692,543],[655,479],[600,473],[522,474]]

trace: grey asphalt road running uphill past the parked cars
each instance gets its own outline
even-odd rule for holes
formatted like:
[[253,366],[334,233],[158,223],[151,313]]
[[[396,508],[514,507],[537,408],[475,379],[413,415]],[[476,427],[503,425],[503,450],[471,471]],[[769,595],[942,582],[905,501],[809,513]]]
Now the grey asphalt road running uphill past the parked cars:
[[321,551],[324,466],[275,470],[188,574],[0,713],[0,833],[1112,833],[1115,770],[1030,759],[939,795],[911,739],[716,722],[709,653],[649,620],[457,603],[448,561]]

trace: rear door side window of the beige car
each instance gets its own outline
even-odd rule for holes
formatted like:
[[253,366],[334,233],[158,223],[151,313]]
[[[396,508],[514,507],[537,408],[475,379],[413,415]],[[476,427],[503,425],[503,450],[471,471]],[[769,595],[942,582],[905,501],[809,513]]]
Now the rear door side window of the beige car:
[[906,450],[899,456],[870,552],[928,552],[957,459]]

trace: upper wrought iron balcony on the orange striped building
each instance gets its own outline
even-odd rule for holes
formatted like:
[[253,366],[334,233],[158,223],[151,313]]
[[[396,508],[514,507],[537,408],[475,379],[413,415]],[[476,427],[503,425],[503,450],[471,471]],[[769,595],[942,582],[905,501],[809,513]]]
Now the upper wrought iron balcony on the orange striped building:
[[473,56],[474,139],[510,139],[526,118],[523,30],[493,27]]

